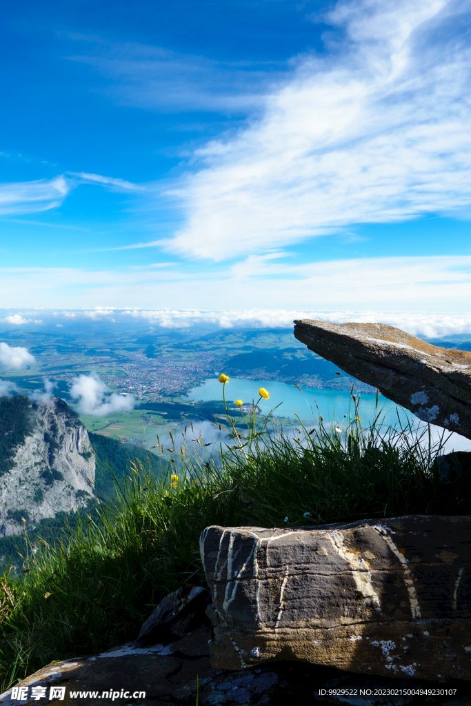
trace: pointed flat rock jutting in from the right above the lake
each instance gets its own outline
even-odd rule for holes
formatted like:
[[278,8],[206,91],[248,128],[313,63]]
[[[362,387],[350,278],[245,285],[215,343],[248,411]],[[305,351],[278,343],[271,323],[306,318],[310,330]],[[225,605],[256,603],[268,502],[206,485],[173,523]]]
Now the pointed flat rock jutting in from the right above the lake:
[[471,354],[382,323],[294,321],[294,336],[419,419],[471,438]]

